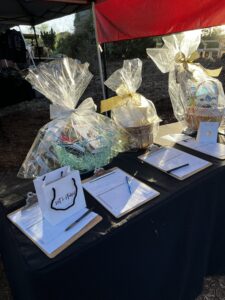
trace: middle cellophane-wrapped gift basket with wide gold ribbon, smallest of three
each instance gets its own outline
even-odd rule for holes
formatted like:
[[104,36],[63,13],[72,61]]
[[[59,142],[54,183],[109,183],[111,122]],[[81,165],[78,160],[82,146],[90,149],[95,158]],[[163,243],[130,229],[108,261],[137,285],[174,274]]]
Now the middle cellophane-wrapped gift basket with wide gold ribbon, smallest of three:
[[142,61],[124,60],[105,85],[121,97],[121,105],[111,110],[111,117],[130,134],[131,148],[146,148],[153,143],[159,122],[155,105],[137,90],[142,82]]

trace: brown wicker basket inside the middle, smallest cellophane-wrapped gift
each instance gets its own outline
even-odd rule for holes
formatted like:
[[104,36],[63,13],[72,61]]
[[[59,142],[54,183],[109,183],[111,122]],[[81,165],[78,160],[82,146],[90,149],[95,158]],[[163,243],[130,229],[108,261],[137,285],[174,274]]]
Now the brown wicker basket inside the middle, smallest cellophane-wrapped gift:
[[132,137],[132,148],[146,149],[153,144],[154,124],[125,127]]

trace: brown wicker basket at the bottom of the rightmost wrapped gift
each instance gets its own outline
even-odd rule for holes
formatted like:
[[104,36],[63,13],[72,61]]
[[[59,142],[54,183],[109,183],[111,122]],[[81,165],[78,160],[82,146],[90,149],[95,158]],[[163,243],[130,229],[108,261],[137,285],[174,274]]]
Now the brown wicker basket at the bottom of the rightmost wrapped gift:
[[188,107],[185,113],[185,121],[188,128],[197,131],[200,122],[222,122],[224,108],[200,108]]

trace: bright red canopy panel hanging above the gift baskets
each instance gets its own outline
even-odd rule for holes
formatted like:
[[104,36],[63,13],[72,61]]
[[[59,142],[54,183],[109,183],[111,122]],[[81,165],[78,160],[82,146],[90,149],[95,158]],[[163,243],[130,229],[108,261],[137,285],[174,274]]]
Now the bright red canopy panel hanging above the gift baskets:
[[225,24],[225,0],[105,0],[95,5],[99,43]]

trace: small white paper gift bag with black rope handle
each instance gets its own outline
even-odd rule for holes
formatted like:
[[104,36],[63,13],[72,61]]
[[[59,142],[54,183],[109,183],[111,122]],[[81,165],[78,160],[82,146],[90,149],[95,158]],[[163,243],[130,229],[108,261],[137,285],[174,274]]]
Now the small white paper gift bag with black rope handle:
[[43,217],[56,225],[86,207],[80,174],[63,167],[34,180]]

